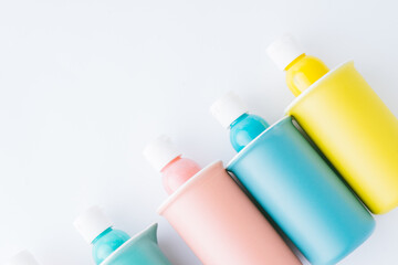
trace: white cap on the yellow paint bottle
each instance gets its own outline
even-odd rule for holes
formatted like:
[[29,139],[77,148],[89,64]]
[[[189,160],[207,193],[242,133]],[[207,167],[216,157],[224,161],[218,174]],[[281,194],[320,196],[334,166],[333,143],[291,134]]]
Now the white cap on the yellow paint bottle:
[[293,36],[285,34],[271,43],[266,47],[266,53],[280,70],[284,70],[304,51]]

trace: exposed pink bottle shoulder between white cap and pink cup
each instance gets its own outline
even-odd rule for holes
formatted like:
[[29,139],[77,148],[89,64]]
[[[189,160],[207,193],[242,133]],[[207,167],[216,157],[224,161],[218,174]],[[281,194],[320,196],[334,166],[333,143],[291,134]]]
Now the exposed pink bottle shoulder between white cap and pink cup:
[[200,166],[191,159],[181,158],[181,156],[175,158],[160,171],[166,192],[168,194],[175,192],[188,179],[199,172],[200,169]]

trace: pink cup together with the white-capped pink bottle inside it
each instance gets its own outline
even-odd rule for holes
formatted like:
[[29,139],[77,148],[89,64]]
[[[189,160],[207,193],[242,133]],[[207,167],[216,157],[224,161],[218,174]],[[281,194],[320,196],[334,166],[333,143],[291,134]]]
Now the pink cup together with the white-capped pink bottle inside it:
[[144,156],[170,197],[159,208],[205,265],[298,265],[301,262],[217,161],[200,170],[161,136]]

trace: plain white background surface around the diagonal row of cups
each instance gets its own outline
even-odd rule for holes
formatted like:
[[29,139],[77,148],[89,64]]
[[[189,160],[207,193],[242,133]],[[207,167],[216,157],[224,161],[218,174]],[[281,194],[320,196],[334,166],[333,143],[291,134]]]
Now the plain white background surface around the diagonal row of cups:
[[[159,221],[172,263],[200,264],[156,214],[167,195],[145,144],[166,132],[202,166],[228,161],[208,108],[232,89],[282,117],[293,95],[265,46],[284,32],[331,67],[354,59],[398,115],[395,2],[1,0],[0,261],[30,248],[43,265],[92,264],[72,222],[101,204],[130,234]],[[377,216],[341,264],[398,264],[397,223],[398,210]]]

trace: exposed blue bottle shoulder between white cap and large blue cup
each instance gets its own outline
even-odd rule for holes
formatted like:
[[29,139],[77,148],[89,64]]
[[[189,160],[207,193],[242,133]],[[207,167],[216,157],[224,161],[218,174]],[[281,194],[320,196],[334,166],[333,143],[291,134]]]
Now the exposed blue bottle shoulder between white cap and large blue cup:
[[243,114],[230,126],[230,141],[235,151],[242,150],[269,127],[260,116]]

